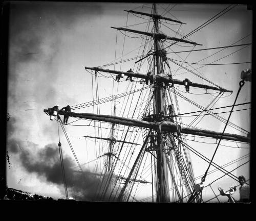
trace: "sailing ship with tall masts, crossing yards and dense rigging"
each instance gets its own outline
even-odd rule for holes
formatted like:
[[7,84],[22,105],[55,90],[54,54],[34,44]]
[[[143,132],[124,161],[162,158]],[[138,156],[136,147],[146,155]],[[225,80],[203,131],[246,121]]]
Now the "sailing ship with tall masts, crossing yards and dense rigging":
[[[202,44],[188,39],[193,32],[178,37],[178,32],[172,36],[167,32],[168,29],[163,31],[162,26],[181,26],[186,23],[159,13],[156,4],[153,4],[150,10],[151,12],[147,13],[124,10],[128,14],[138,16],[139,19],[148,19],[147,22],[144,22],[146,24],[144,31],[127,28],[127,24],[120,28],[111,27],[117,33],[120,31],[126,38],[129,37],[129,34],[133,34],[130,37],[141,37],[143,42],[143,44],[141,43],[143,48],[142,52],[140,51],[141,55],[138,54],[136,57],[126,60],[123,58],[116,60],[115,57],[115,61],[108,64],[113,67],[112,69],[106,69],[105,67],[108,65],[85,67],[86,74],[89,77],[91,75],[92,82],[96,86],[96,95],[94,94],[96,99],[94,97],[91,102],[73,105],[71,111],[47,108],[44,109],[44,112],[51,119],[58,121],[58,125],[65,134],[66,126],[60,116],[69,116],[70,119],[77,118],[75,120],[90,120],[90,124],[84,127],[92,126],[94,134],[92,136],[84,134],[80,138],[84,139],[84,142],[94,143],[88,150],[96,152],[95,160],[80,165],[73,152],[78,163],[78,169],[74,169],[73,172],[79,176],[92,176],[98,179],[94,200],[176,203],[219,201],[218,195],[220,194],[216,192],[218,190],[205,184],[206,176],[211,176],[218,171],[219,177],[222,179],[225,179],[223,176],[229,177],[233,181],[232,185],[238,186],[238,175],[225,168],[231,164],[215,163],[216,153],[213,151],[217,152],[221,141],[228,142],[229,145],[236,143],[249,148],[250,136],[248,131],[216,113],[215,111],[220,107],[215,106],[215,108],[214,105],[224,93],[225,95],[232,93],[233,90],[239,88],[239,85],[233,90],[222,87],[198,73],[191,64],[187,65],[185,59],[182,62],[172,59],[175,54],[172,50],[173,47],[193,46],[192,50],[185,51],[190,54],[195,50],[195,46],[202,46]],[[121,68],[121,64],[124,63],[129,63],[134,68],[125,71]],[[120,65],[119,70],[116,68],[118,64]],[[174,78],[177,71],[181,70],[185,71],[185,75],[193,73],[197,77],[196,80],[191,81],[188,77],[185,79]],[[247,74],[246,71],[243,73],[243,84],[246,79],[244,75]],[[122,93],[115,93],[113,90],[111,96],[99,98],[98,78],[105,78],[106,81],[113,82],[119,87],[123,86],[121,89],[125,90]],[[211,99],[206,99],[210,102],[207,105],[200,105],[200,102],[192,101],[191,97],[197,96],[198,98],[198,95],[189,93],[194,89],[203,91],[204,93],[201,94],[211,97]],[[183,93],[186,94],[183,95]],[[181,112],[179,105],[185,102],[197,109],[189,109],[190,105],[187,105],[186,113]],[[105,104],[111,104],[111,111],[104,110],[104,112],[109,112],[109,115],[100,114],[100,107]],[[224,108],[229,108],[228,113],[231,115],[236,105],[238,104],[234,102],[234,104],[225,105]],[[94,113],[76,112],[78,109],[92,106],[95,110]],[[119,108],[119,115],[116,111],[117,108]],[[190,124],[186,124],[187,121],[184,119],[188,115],[195,116]],[[208,121],[209,124],[206,124],[207,128],[197,127],[199,121],[206,115],[214,116],[215,121],[220,120],[224,123],[223,125],[229,126],[233,130],[242,131],[243,134],[227,133],[225,129],[223,130],[223,125],[219,131],[211,130],[215,124],[212,124],[214,121],[211,120]],[[74,124],[73,122],[75,121],[68,125]],[[68,134],[66,137],[68,139]],[[206,140],[211,142],[207,144]],[[205,148],[207,145],[211,145],[211,156],[206,157],[204,153],[200,153],[195,148],[195,145],[197,146],[200,142],[204,143]],[[194,146],[190,143],[193,143]],[[200,148],[203,150],[202,147]],[[68,199],[69,188],[65,182],[65,163],[63,162],[61,142],[59,142],[59,151],[60,159],[62,159],[65,193]],[[203,159],[203,163],[196,163],[197,168],[202,167],[205,170],[209,165],[214,169],[209,170],[208,167],[205,174],[195,176],[191,154],[196,154],[197,157]],[[225,158],[225,156],[222,157]],[[88,169],[87,166],[92,163],[94,163],[93,166]],[[219,177],[217,180],[220,179]],[[211,184],[214,182],[211,180]],[[212,198],[208,196],[204,199],[203,192],[206,189],[208,192],[212,190],[209,194]],[[76,196],[72,197],[76,198]],[[215,201],[210,201],[212,199]]]

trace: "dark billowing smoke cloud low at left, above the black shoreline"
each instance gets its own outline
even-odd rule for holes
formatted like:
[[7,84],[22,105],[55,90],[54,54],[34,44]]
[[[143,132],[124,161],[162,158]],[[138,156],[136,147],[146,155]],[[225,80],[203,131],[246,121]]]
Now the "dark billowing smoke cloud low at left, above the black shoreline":
[[[44,148],[38,149],[38,145],[33,142],[21,144],[18,140],[11,139],[8,142],[8,151],[18,155],[20,163],[28,173],[34,173],[39,179],[56,184],[63,191],[63,178],[57,144],[50,143],[45,145]],[[88,170],[77,173],[77,165],[69,156],[63,157],[63,164],[68,192],[75,199],[81,201],[109,201],[114,198],[116,190],[112,193],[113,185],[108,186],[106,184],[108,183],[109,174],[103,174],[104,176],[100,178],[100,176],[95,176]],[[116,177],[113,176],[111,183],[114,183],[115,179]]]

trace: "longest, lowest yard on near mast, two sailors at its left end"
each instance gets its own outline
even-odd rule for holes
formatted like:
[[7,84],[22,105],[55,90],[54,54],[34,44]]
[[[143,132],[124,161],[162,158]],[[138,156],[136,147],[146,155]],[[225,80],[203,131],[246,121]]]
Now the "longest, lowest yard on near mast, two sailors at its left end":
[[[45,109],[44,112],[48,113],[48,109]],[[136,119],[130,119],[130,118],[118,117],[118,116],[112,116],[112,115],[93,114],[93,113],[75,113],[75,112],[65,112],[65,111],[58,111],[58,114],[68,115],[71,117],[79,117],[83,119],[99,120],[103,122],[110,122],[110,123],[120,124],[124,126],[143,127],[143,128],[153,129],[153,130],[159,130],[159,125],[156,122],[147,122],[144,120],[136,120]],[[170,122],[170,121],[161,122],[162,131],[176,133],[177,128],[178,128],[178,125],[173,122]],[[221,132],[198,129],[193,127],[181,127],[181,133],[193,134],[193,135],[204,136],[204,137],[212,137],[217,139],[219,139],[222,134]],[[250,142],[249,137],[245,137],[237,134],[229,134],[229,133],[224,133],[222,136],[222,139],[247,142],[247,143]]]

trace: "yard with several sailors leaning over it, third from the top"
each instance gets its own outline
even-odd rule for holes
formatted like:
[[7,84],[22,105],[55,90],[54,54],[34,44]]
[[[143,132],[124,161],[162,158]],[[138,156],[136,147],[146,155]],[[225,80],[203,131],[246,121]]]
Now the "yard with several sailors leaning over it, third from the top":
[[[89,70],[96,70],[96,71],[102,71],[102,72],[107,72],[107,73],[115,73],[117,75],[122,74],[124,76],[132,76],[134,78],[141,78],[141,79],[146,79],[148,78],[147,75],[144,75],[142,73],[131,73],[131,72],[124,72],[124,71],[117,71],[117,70],[109,70],[109,69],[103,69],[99,67],[85,67],[86,69]],[[160,76],[156,76],[156,82],[168,82],[167,78],[163,78]],[[178,79],[173,79],[174,84],[179,84],[179,85],[184,85],[183,81],[178,80]],[[197,87],[197,88],[205,88],[209,90],[218,90],[218,91],[223,91],[223,92],[233,92],[232,90],[227,90],[225,88],[221,87],[213,87],[210,85],[205,85],[205,84],[198,84],[198,83],[190,83],[189,87]]]

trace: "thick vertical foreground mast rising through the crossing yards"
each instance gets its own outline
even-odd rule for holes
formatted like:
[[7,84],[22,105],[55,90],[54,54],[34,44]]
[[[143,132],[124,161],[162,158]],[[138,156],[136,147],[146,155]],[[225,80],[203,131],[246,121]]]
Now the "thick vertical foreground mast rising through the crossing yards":
[[[154,14],[157,14],[156,4],[154,3]],[[153,18],[155,33],[159,31],[158,18]],[[160,45],[159,38],[155,37],[155,59],[156,59],[156,68],[157,75],[162,72],[161,58],[159,56]],[[155,110],[156,114],[160,114],[164,111],[164,93],[163,86],[161,82],[156,82],[155,87]],[[168,184],[168,173],[167,173],[167,163],[165,158],[165,143],[162,142],[163,134],[161,131],[156,131],[157,134],[157,201],[158,202],[169,202],[169,184]]]

